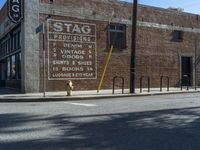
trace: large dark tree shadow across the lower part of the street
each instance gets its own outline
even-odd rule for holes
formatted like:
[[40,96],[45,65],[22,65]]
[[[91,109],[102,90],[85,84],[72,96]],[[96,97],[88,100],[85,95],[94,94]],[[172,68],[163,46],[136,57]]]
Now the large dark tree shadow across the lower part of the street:
[[[87,116],[1,114],[0,150],[199,150],[199,116],[199,107]],[[40,138],[44,130],[61,134]],[[37,138],[2,142],[36,133]]]

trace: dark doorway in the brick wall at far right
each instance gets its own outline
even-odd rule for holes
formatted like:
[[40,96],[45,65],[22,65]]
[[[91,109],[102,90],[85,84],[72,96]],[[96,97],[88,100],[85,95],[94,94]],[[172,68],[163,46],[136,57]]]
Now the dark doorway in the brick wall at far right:
[[181,57],[181,79],[183,86],[192,85],[192,57]]

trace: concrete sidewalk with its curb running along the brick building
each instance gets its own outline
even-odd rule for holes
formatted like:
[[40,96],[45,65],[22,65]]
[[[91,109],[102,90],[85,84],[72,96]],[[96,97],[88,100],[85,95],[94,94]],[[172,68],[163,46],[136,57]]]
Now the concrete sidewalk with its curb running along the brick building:
[[[9,89],[5,89],[8,90]],[[2,89],[1,89],[2,91]],[[121,90],[115,90],[115,94],[112,94],[112,90],[102,90],[97,93],[96,90],[92,91],[73,91],[72,96],[66,96],[65,91],[60,92],[46,92],[46,96],[43,97],[43,93],[27,93],[27,94],[10,94],[6,91],[4,94],[0,94],[0,102],[47,102],[47,101],[66,101],[66,100],[89,100],[89,99],[105,99],[105,98],[120,98],[120,97],[137,97],[137,96],[152,96],[152,95],[166,95],[166,94],[180,94],[180,93],[197,93],[200,92],[200,88],[195,90],[194,88],[187,90],[183,88],[170,88],[168,92],[163,89],[160,92],[159,88],[152,88],[150,92],[147,89],[143,89],[140,93],[139,89],[136,89],[136,94],[130,94],[129,89],[125,89],[124,94]],[[13,92],[13,91],[12,91]],[[8,94],[9,93],[9,94]]]

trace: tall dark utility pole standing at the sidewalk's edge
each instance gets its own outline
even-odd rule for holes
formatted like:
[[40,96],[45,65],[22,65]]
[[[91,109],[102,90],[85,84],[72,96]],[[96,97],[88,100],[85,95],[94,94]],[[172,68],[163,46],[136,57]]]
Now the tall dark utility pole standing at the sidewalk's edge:
[[135,93],[135,75],[136,75],[136,30],[137,30],[137,6],[138,0],[133,3],[132,15],[132,46],[131,46],[131,67],[130,67],[130,93]]

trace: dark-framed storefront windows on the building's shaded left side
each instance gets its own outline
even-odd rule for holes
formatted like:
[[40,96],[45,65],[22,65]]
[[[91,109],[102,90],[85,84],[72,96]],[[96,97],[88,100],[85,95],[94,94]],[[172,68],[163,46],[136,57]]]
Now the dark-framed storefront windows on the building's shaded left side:
[[21,88],[21,34],[20,28],[10,31],[0,40],[1,87]]

